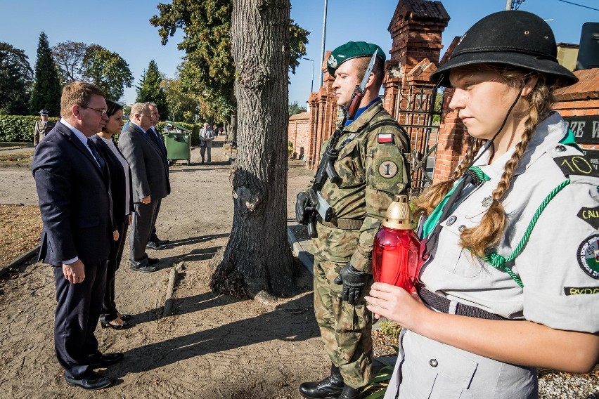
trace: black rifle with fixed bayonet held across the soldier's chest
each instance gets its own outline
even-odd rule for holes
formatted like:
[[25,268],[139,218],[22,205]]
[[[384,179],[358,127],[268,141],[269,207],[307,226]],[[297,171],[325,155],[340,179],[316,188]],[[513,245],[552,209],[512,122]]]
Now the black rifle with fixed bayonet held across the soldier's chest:
[[[326,150],[321,157],[321,162],[318,164],[318,169],[316,169],[312,187],[308,190],[309,204],[307,204],[306,209],[310,212],[308,216],[308,235],[310,237],[316,237],[316,214],[320,215],[321,218],[327,222],[333,218],[333,208],[326,202],[326,199],[321,194],[321,190],[327,178],[331,183],[341,183],[341,177],[335,170],[335,161],[337,160],[337,157],[339,157],[337,143],[342,136],[345,122],[347,122],[348,119],[352,120],[356,117],[356,112],[358,112],[358,108],[360,107],[361,100],[364,96],[364,89],[366,89],[366,83],[373,71],[375,60],[376,51],[371,58],[371,62],[368,64],[368,68],[366,68],[366,74],[364,74],[361,84],[356,85],[354,93],[352,93],[352,99],[349,100],[349,107],[343,107],[343,119],[337,126],[337,129],[333,132],[333,136],[331,136],[330,141],[326,146]],[[352,135],[349,140],[352,140],[353,138],[354,136]],[[344,143],[349,142],[349,140],[346,139]]]

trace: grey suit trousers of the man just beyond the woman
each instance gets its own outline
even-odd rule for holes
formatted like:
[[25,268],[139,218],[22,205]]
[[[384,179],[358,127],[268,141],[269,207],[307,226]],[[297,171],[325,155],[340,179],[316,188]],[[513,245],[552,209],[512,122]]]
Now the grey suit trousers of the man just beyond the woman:
[[159,199],[153,199],[149,204],[136,202],[134,204],[133,221],[131,221],[131,233],[129,233],[129,266],[142,268],[148,266],[148,255],[146,244],[152,233],[152,222]]

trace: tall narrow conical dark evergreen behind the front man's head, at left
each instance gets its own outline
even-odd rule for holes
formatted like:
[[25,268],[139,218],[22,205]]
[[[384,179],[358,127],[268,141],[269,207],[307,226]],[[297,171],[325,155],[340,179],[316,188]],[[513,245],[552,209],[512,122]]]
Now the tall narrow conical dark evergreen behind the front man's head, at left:
[[44,32],[39,34],[37,45],[37,61],[35,62],[35,81],[31,93],[29,110],[32,114],[41,109],[48,110],[51,116],[60,114],[60,96],[62,84],[58,68],[52,58],[48,37]]

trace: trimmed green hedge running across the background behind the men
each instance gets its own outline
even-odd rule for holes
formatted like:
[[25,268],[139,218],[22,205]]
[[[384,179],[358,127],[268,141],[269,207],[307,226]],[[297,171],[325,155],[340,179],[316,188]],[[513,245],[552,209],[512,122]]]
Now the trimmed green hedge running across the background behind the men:
[[[58,122],[58,118],[49,118],[49,120]],[[33,143],[33,129],[37,121],[39,117],[35,116],[0,115],[0,141]],[[191,145],[200,145],[200,125],[183,122],[176,122],[176,124],[191,130]],[[158,122],[156,128],[162,132],[165,129],[165,122]]]

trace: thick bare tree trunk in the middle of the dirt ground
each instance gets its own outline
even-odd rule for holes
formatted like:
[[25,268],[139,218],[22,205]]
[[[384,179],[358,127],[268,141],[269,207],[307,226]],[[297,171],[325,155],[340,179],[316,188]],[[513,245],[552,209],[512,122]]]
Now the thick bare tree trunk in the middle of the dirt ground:
[[289,0],[233,0],[238,149],[233,228],[211,287],[259,299],[292,291],[287,242]]

